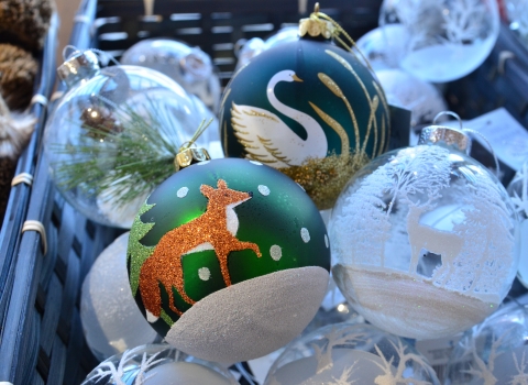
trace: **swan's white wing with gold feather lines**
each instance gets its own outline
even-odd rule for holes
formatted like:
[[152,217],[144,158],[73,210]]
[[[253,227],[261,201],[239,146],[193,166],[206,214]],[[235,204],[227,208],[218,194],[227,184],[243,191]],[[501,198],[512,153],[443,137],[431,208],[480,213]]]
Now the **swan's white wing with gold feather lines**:
[[244,146],[248,158],[275,168],[292,165],[293,160],[287,155],[292,153],[288,143],[295,146],[301,140],[275,113],[233,102],[231,125],[240,144]]

